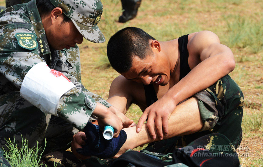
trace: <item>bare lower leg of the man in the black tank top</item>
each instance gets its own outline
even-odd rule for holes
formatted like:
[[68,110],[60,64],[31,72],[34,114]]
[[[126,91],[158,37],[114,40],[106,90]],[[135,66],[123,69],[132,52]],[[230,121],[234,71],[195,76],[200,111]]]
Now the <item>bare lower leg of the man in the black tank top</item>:
[[[179,104],[171,114],[169,118],[169,134],[164,136],[164,139],[192,134],[200,131],[202,127],[203,122],[198,109],[197,99],[192,97]],[[122,130],[126,132],[127,140],[114,158],[119,157],[129,149],[134,149],[146,143],[160,141],[158,137],[155,139],[150,137],[146,124],[142,126],[139,133],[136,132],[136,127],[124,128]],[[157,133],[156,130],[155,133]]]

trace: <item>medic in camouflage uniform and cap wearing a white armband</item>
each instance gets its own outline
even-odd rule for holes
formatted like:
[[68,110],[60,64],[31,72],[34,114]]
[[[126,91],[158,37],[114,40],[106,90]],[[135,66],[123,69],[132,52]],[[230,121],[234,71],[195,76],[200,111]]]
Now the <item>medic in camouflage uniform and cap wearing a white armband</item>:
[[46,138],[46,152],[65,150],[73,134],[96,116],[112,124],[117,136],[122,123],[110,112],[116,109],[84,88],[80,78],[76,43],[83,36],[105,41],[97,26],[101,14],[99,0],[33,0],[1,13],[1,148],[5,138],[20,146],[23,135],[29,147],[38,142],[44,148]]

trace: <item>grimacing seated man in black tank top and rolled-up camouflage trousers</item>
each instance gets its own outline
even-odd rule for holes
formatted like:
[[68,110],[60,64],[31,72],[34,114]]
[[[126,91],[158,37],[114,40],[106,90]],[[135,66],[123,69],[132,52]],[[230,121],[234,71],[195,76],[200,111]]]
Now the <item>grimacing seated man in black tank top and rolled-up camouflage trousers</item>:
[[[129,45],[123,42],[126,40]],[[187,107],[194,104],[198,109],[187,111],[185,119],[180,119],[187,120],[185,127],[193,127],[187,131],[183,126],[172,134],[180,136],[176,145],[186,146],[205,134],[221,133],[238,147],[242,139],[244,98],[228,75],[235,67],[233,53],[220,44],[217,35],[201,31],[160,42],[139,28],[127,27],[110,38],[107,54],[112,67],[122,74],[113,81],[108,102],[124,113],[131,103],[142,109],[137,132],[143,129],[147,119],[146,127],[152,139],[169,136],[170,126],[179,127],[169,117],[186,112],[177,110],[191,97],[196,102],[181,109],[189,110]],[[188,113],[195,116],[193,120]]]

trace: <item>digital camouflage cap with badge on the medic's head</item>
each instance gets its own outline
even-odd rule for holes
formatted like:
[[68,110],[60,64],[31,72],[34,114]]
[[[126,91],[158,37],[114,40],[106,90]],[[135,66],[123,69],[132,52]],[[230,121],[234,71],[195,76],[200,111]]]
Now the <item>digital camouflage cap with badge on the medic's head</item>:
[[50,0],[63,10],[84,38],[91,42],[105,42],[104,35],[97,24],[101,19],[102,3],[100,0]]

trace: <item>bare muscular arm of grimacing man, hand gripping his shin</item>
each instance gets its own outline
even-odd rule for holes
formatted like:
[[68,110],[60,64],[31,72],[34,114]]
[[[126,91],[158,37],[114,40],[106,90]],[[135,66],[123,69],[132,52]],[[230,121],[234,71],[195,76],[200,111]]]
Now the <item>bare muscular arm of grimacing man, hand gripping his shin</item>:
[[[189,58],[190,55],[197,56],[200,58],[199,63],[197,65],[193,64],[192,70],[183,79],[144,111],[137,124],[137,132],[139,131],[138,128],[141,129],[148,113],[165,112],[166,116],[160,118],[161,122],[155,121],[155,126],[163,128],[163,132],[162,128],[157,129],[159,137],[162,137],[163,134],[165,136],[168,135],[168,119],[179,102],[208,88],[218,79],[234,70],[235,60],[233,53],[229,47],[220,44],[220,40],[216,34],[211,31],[201,31],[196,33],[189,42]],[[156,122],[158,125],[156,125]],[[154,122],[150,121],[150,123],[153,124]],[[147,127],[153,126],[147,125]],[[155,138],[154,129],[148,128],[148,130],[151,137]]]

